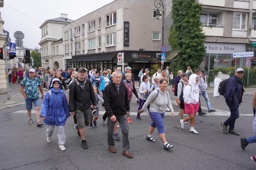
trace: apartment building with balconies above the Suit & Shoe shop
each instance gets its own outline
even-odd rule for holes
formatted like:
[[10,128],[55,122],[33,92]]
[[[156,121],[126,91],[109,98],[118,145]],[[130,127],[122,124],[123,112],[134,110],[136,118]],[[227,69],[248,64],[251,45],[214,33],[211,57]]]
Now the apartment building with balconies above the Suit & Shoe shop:
[[256,1],[254,0],[197,0],[204,5],[200,12],[205,33],[207,55],[200,65],[209,71],[221,67],[256,67],[254,57],[233,58],[233,52],[256,51]]

